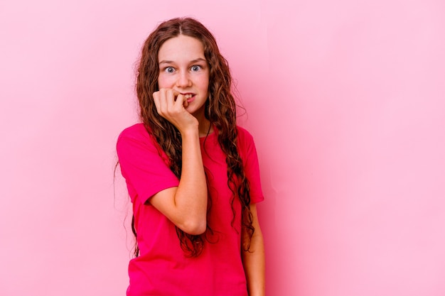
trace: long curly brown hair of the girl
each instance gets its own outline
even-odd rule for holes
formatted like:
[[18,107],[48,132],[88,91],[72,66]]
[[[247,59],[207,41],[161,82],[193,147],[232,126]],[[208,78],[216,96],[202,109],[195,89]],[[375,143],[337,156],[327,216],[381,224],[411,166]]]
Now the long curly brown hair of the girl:
[[[236,104],[231,93],[232,77],[227,60],[221,55],[215,38],[199,21],[193,18],[173,18],[161,23],[146,39],[141,50],[136,78],[136,94],[139,100],[141,121],[160,148],[166,153],[171,171],[176,177],[180,178],[182,165],[181,133],[173,124],[158,114],[153,99],[153,93],[159,90],[159,48],[166,40],[178,35],[190,36],[203,43],[205,59],[210,69],[209,97],[205,102],[205,118],[210,121],[210,125],[215,126],[218,130],[218,143],[226,155],[227,186],[232,191],[231,207],[234,215],[232,226],[235,221],[233,202],[237,197],[242,208],[242,236],[247,239],[247,243],[242,248],[244,251],[249,251],[254,227],[252,226],[253,217],[250,212],[249,181],[245,175],[242,159],[237,149]],[[210,199],[209,204],[211,204]],[[208,214],[209,212],[210,209],[208,209]],[[134,219],[132,230],[137,237]],[[188,253],[188,256],[199,256],[203,251],[205,241],[208,241],[205,234],[198,236],[186,234],[178,227],[176,227],[176,233],[181,248]],[[137,245],[135,255],[139,256]]]

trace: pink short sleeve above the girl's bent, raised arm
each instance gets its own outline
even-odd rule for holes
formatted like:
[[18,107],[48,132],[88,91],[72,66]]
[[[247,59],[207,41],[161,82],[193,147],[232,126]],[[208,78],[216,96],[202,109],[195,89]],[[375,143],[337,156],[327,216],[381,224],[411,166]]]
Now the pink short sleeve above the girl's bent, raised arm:
[[132,202],[140,198],[140,202],[144,203],[157,192],[178,186],[178,178],[168,168],[143,125],[122,131],[116,148]]

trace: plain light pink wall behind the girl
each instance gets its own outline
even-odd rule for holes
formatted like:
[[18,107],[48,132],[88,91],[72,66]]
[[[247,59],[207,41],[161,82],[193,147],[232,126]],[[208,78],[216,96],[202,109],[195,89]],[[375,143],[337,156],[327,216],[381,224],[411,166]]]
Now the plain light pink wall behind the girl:
[[213,31],[247,109],[267,294],[445,295],[441,0],[2,0],[0,294],[124,295],[114,144],[173,16]]

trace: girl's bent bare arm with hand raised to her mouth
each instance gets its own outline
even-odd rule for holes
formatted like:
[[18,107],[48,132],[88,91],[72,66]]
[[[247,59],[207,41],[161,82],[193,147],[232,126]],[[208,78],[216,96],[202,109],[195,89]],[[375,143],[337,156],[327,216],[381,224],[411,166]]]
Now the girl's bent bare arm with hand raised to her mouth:
[[202,234],[206,229],[208,196],[198,121],[184,108],[185,97],[173,89],[154,93],[154,101],[159,114],[181,132],[183,163],[178,187],[154,194],[149,202],[184,232]]

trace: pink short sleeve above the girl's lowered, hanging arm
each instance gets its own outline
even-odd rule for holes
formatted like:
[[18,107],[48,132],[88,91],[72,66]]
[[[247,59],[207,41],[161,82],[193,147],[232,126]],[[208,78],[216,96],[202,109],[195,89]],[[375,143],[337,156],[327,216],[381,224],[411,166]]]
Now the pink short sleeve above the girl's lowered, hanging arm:
[[245,174],[250,183],[250,202],[257,203],[264,200],[257,149],[252,135],[244,128],[238,127],[238,148],[244,163]]

